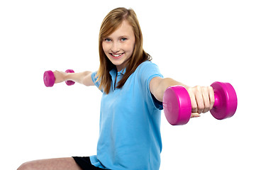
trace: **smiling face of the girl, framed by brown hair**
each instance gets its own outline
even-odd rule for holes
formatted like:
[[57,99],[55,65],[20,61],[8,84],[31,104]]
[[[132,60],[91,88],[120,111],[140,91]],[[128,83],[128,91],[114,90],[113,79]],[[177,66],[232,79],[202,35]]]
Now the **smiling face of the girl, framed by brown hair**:
[[135,35],[128,21],[123,21],[121,26],[102,41],[106,57],[116,65],[118,72],[126,67],[133,55],[134,45]]

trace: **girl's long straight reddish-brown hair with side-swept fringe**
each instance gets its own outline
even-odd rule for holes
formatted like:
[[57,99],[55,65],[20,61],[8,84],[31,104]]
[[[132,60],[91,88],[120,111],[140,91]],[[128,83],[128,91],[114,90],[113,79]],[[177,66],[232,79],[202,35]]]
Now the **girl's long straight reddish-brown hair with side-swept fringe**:
[[100,65],[96,74],[96,77],[98,77],[96,81],[100,81],[99,89],[103,89],[106,94],[108,94],[110,91],[112,81],[109,72],[111,69],[115,69],[116,66],[112,64],[110,60],[108,60],[108,57],[106,57],[102,47],[102,41],[108,35],[111,35],[111,33],[113,33],[123,21],[128,21],[130,26],[133,28],[133,33],[135,35],[135,47],[133,50],[133,55],[130,57],[128,64],[126,65],[126,73],[123,75],[123,78],[119,81],[116,88],[120,89],[126,83],[126,80],[130,77],[130,74],[133,74],[135,69],[142,62],[152,60],[152,57],[143,50],[143,34],[141,33],[140,24],[133,9],[115,8],[110,11],[104,18],[104,21],[101,23],[101,29],[99,31]]

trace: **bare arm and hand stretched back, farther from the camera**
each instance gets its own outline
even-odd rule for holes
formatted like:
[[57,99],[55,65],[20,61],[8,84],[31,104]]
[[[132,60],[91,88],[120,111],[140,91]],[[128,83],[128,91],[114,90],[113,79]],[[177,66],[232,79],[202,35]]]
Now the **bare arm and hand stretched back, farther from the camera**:
[[85,86],[94,86],[94,82],[91,79],[92,72],[79,72],[79,73],[66,73],[55,71],[55,84],[61,83],[62,81],[72,80],[79,84],[84,84]]

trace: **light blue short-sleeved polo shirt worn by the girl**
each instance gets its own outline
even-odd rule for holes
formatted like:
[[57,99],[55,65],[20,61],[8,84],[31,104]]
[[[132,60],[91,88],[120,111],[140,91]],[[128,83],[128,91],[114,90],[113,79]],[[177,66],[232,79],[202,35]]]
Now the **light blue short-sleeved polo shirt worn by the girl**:
[[[162,77],[156,64],[143,62],[118,86],[126,69],[112,69],[109,94],[102,94],[97,155],[91,164],[103,169],[157,170],[160,168],[162,103],[150,93],[150,80]],[[91,75],[94,84],[96,72]],[[116,79],[117,77],[117,79]]]

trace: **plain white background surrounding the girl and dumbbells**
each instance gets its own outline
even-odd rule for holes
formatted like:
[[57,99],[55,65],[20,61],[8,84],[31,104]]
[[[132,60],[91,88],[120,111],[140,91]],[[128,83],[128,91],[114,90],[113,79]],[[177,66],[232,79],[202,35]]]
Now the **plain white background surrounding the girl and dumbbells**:
[[46,88],[46,70],[96,71],[99,27],[133,8],[144,49],[164,77],[189,86],[228,81],[238,110],[172,126],[162,112],[168,169],[256,169],[254,1],[0,1],[0,169],[33,159],[96,154],[101,92],[81,84]]

